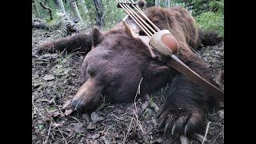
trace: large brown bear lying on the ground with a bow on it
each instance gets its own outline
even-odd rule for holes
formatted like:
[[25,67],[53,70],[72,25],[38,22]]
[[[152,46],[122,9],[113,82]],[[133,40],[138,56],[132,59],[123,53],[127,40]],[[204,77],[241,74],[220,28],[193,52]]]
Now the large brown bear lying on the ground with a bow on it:
[[[214,83],[206,64],[190,50],[189,46],[196,48],[200,39],[189,12],[182,7],[150,7],[145,14],[161,30],[178,34],[178,58]],[[75,34],[38,46],[38,52],[44,50],[78,50],[86,54],[82,63],[85,82],[71,102],[76,110],[93,111],[103,99],[112,103],[134,101],[140,82],[139,97],[170,83],[158,114],[158,127],[165,134],[178,136],[202,132],[206,110],[216,104],[212,95],[190,79],[151,58],[146,45],[127,33],[122,23],[106,32],[93,28],[90,34]]]

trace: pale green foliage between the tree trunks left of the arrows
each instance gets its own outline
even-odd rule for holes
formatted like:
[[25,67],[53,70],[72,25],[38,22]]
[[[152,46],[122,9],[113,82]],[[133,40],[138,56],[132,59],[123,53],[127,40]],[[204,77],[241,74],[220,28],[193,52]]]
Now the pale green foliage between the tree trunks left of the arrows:
[[[54,19],[50,21],[50,16],[47,10],[44,10],[42,6],[40,6],[39,2],[44,3],[43,0],[37,0],[35,1],[35,6],[32,8],[32,13],[35,17],[41,18],[45,20],[48,24],[54,25],[58,24],[58,21],[60,20],[60,16],[58,13],[58,6],[54,3],[54,1],[48,1],[46,3],[46,6],[50,7],[52,10],[52,14]],[[88,12],[85,14],[84,11],[80,9],[78,6],[78,10],[81,14],[82,20],[87,25],[93,26],[96,23],[96,9],[94,6],[94,2],[92,0],[85,0],[85,4],[87,7]],[[103,30],[108,30],[111,27],[113,27],[117,22],[121,22],[122,18],[126,16],[126,13],[117,7],[117,2],[115,0],[102,0],[103,5],[103,18],[105,20],[106,26],[103,27]],[[68,3],[64,3],[64,7],[66,10],[66,13],[73,15],[72,11],[70,10],[70,5]],[[37,8],[37,10],[35,10]]]

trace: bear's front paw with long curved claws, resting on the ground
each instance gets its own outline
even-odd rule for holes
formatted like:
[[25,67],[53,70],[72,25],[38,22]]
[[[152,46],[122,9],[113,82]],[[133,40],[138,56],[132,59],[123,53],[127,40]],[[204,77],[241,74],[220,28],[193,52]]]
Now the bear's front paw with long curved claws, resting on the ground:
[[163,106],[158,114],[158,130],[168,135],[187,135],[202,131],[203,117],[200,110],[170,109]]

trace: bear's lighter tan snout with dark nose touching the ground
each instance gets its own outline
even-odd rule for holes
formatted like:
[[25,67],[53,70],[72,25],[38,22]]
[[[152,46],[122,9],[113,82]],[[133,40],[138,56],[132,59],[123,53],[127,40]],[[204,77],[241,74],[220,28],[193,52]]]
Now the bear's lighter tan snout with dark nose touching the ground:
[[101,105],[102,96],[101,88],[96,84],[94,79],[89,78],[75,94],[71,101],[74,110],[82,112],[92,111]]

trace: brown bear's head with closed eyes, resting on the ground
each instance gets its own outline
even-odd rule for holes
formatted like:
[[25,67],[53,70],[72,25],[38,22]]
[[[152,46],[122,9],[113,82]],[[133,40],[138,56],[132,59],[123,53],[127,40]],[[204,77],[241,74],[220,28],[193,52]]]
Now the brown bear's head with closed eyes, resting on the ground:
[[102,102],[131,102],[140,85],[140,96],[165,86],[170,68],[154,61],[146,46],[125,30],[91,33],[92,49],[82,63],[84,83],[71,106],[82,111],[95,110]]

